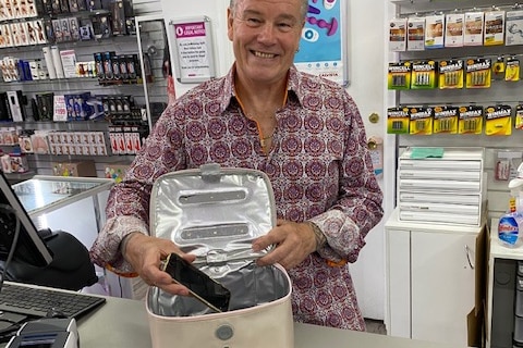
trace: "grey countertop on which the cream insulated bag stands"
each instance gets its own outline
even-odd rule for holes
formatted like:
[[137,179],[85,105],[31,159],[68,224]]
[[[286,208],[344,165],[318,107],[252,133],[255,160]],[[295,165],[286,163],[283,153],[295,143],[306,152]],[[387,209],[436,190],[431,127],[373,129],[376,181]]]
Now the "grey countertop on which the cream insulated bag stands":
[[[107,303],[78,321],[82,348],[148,348],[151,346],[145,302],[108,297]],[[253,327],[253,330],[255,330]],[[294,326],[296,348],[373,347],[442,348],[442,345],[308,324]],[[448,345],[446,348],[450,348]]]

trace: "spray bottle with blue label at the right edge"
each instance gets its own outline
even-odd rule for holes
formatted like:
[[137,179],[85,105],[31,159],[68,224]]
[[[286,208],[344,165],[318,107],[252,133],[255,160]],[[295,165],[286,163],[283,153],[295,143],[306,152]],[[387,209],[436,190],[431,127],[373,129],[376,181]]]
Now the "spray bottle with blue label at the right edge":
[[506,246],[523,244],[523,163],[518,167],[518,177],[509,183],[509,211],[499,219],[498,237]]

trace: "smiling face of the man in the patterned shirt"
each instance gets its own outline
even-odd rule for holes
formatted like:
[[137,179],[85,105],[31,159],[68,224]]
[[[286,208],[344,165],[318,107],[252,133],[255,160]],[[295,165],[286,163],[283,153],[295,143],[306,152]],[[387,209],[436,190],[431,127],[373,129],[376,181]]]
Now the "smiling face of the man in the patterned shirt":
[[300,0],[238,0],[228,12],[241,80],[272,84],[287,78],[304,25]]

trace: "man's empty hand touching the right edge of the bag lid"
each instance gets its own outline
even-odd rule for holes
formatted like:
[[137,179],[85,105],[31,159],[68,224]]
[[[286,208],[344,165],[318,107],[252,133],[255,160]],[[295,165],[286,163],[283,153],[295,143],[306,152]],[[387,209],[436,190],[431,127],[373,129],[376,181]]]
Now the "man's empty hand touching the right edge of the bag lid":
[[258,265],[279,263],[289,270],[316,250],[316,238],[307,223],[278,220],[275,228],[254,240],[253,250],[260,251],[271,245],[276,245],[276,249],[258,259]]

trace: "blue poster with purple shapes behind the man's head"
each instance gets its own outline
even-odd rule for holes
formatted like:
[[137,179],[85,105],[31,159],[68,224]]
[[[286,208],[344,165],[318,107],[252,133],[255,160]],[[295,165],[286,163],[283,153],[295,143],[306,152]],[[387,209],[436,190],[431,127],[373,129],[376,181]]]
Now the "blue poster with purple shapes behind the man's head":
[[342,0],[309,0],[300,51],[294,58],[300,71],[343,86],[349,84],[344,3]]

